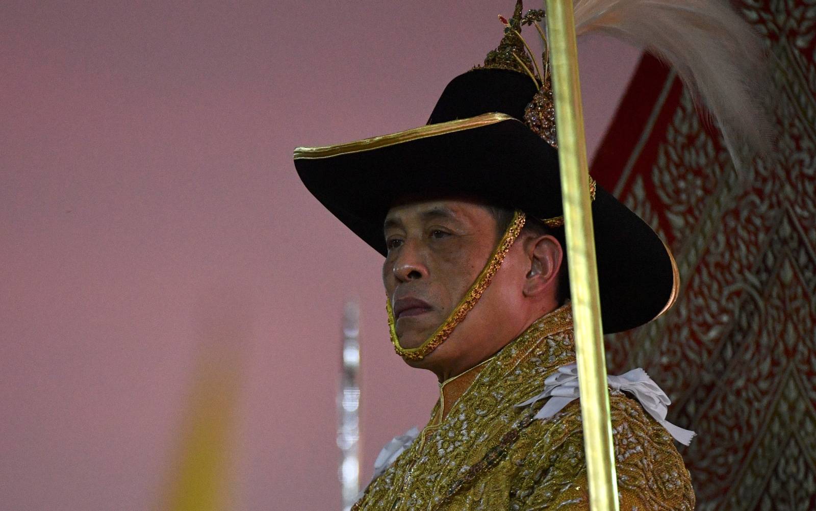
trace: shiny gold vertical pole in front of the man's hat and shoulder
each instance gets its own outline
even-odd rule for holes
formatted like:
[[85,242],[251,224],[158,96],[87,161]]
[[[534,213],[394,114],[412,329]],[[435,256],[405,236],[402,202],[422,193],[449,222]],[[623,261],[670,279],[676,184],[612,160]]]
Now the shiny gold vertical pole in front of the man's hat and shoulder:
[[609,390],[572,0],[544,0],[556,104],[558,159],[578,358],[583,446],[592,511],[618,511]]

